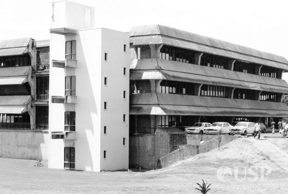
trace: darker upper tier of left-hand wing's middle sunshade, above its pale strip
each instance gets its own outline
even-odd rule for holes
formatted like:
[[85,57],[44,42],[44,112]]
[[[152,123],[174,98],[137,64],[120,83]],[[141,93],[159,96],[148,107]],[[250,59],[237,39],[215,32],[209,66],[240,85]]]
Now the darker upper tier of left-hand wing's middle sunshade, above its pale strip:
[[8,77],[8,76],[27,76],[31,74],[32,67],[31,66],[20,66],[20,67],[3,67],[0,69],[0,77]]

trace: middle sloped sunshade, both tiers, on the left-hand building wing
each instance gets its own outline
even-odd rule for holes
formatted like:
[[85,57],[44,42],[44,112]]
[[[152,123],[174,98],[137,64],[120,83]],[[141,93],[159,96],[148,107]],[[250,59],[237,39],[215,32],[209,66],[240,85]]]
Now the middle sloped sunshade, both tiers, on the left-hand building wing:
[[0,71],[0,85],[23,84],[31,76],[31,66],[6,67]]

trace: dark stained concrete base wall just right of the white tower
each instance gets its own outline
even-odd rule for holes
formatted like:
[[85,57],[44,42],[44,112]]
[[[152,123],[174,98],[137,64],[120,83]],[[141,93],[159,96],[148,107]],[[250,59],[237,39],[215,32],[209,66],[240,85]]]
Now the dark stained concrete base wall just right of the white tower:
[[129,137],[129,168],[155,168],[155,135],[137,134]]

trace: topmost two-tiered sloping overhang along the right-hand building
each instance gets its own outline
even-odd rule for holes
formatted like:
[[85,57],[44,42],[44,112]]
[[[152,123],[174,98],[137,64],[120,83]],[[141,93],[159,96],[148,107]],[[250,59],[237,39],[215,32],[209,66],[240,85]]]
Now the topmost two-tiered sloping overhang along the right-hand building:
[[288,61],[282,56],[158,24],[134,26],[130,32],[130,43],[133,45],[164,44],[182,47],[288,70]]

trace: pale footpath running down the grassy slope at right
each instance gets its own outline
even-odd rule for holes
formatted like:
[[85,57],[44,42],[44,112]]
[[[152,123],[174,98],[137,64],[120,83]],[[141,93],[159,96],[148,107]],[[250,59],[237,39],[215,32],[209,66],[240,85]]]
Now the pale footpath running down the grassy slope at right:
[[253,137],[249,137],[247,138],[247,140],[254,143],[260,151],[268,155],[270,159],[273,160],[277,165],[279,165],[281,168],[288,171],[287,152],[281,150],[280,148],[275,146],[273,143],[263,138],[261,138],[260,140],[257,140],[256,138],[254,139]]

